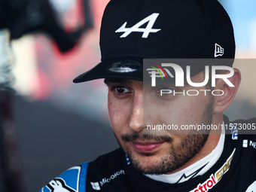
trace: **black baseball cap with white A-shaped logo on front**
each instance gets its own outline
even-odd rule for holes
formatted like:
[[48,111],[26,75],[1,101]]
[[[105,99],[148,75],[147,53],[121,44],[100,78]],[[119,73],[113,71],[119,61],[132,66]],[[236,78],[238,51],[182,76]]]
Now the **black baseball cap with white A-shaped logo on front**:
[[143,81],[143,59],[231,59],[221,63],[232,66],[235,56],[233,26],[217,0],[111,0],[102,17],[100,48],[101,62],[74,83]]

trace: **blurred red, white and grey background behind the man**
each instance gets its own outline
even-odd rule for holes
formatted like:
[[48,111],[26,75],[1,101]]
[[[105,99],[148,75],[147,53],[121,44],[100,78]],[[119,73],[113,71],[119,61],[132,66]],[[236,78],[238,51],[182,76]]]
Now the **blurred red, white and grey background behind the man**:
[[[10,1],[14,3],[10,6],[19,2]],[[9,177],[17,177],[14,180],[20,182],[20,191],[32,192],[40,190],[65,169],[94,160],[118,145],[108,120],[107,87],[103,81],[72,83],[73,78],[100,61],[99,28],[108,0],[49,0],[47,6],[39,6],[47,1],[24,1],[29,2],[24,9],[32,18],[27,26],[36,26],[35,23],[46,17],[38,13],[51,8],[57,25],[62,28],[51,29],[41,24],[26,31],[20,22],[16,25],[23,29],[20,34],[14,26],[8,26],[14,31],[11,44],[5,42],[10,34],[4,29],[0,31],[0,62],[11,64],[11,68],[5,66],[11,83],[4,87],[15,90],[14,94],[5,95],[5,90],[0,95],[2,108],[8,111],[2,136],[9,139],[7,148],[13,154],[8,157],[11,160],[14,157],[11,165],[17,168],[14,176]],[[220,2],[233,22],[239,59],[235,67],[242,72],[239,92],[225,114],[230,120],[248,119],[256,116],[256,2]],[[57,30],[63,31],[62,35],[54,34]],[[62,37],[70,40],[66,43],[68,47],[61,44]],[[0,120],[3,117],[4,114]],[[12,131],[9,133],[6,127]],[[1,159],[0,163],[4,165]],[[5,171],[0,169],[0,191],[12,191],[1,188],[5,185],[2,175]]]

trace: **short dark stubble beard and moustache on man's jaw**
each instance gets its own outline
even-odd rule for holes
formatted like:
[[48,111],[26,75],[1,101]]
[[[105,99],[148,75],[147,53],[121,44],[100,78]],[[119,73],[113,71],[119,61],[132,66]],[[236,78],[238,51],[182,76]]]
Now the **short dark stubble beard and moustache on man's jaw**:
[[[202,122],[204,125],[212,124],[212,111],[213,111],[213,97],[211,96],[209,103],[206,105],[206,109],[203,113]],[[173,145],[169,148],[167,154],[163,155],[160,160],[148,160],[148,162],[141,162],[135,155],[130,151],[129,148],[121,145],[121,141],[132,142],[139,139],[139,133],[129,133],[121,136],[121,139],[118,139],[120,147],[123,148],[123,151],[130,158],[133,166],[144,174],[166,174],[168,172],[173,172],[175,169],[180,168],[190,159],[192,159],[203,146],[206,144],[206,141],[209,137],[210,130],[202,130],[201,132],[187,134],[181,138],[181,142],[178,147],[175,149]],[[145,141],[155,141],[155,142],[173,142],[172,137],[168,135],[154,136],[149,134],[144,134],[143,139]],[[151,156],[151,154],[144,154],[145,156]]]

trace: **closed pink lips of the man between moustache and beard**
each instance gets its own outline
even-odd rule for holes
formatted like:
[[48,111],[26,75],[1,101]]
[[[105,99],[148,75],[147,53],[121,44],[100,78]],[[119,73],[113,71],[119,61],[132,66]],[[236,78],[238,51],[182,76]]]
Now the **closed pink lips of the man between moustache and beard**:
[[133,148],[136,149],[136,151],[141,153],[152,153],[154,151],[157,151],[158,148],[160,148],[163,145],[163,142],[160,143],[154,143],[154,142],[132,142]]

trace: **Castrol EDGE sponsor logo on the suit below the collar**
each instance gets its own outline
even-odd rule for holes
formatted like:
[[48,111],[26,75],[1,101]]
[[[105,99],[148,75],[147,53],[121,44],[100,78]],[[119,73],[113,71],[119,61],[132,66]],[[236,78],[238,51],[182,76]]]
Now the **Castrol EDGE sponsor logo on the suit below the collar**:
[[190,190],[190,192],[207,192],[212,187],[215,186],[215,184],[218,183],[218,181],[221,181],[222,176],[230,169],[231,161],[233,159],[233,154],[235,153],[236,148],[234,148],[232,154],[230,154],[230,157],[227,158],[226,162],[221,166],[220,169],[218,169],[215,174],[212,174],[206,181],[204,181],[202,184],[197,184],[197,188],[194,188],[194,190]]

